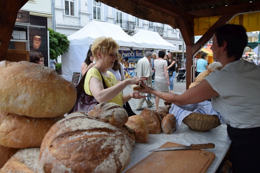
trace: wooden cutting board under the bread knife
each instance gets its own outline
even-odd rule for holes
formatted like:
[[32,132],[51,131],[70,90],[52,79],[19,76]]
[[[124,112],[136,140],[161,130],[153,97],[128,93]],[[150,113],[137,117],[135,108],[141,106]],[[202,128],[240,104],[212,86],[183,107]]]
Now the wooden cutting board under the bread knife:
[[[164,143],[160,148],[181,147],[172,142]],[[151,148],[155,149],[155,148]],[[215,154],[204,150],[154,151],[129,168],[125,173],[138,172],[206,172],[215,159]]]

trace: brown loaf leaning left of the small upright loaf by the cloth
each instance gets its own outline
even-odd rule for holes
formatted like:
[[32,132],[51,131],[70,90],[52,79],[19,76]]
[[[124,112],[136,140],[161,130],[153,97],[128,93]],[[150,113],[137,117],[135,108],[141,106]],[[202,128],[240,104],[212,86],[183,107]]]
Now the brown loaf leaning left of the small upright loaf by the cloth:
[[148,108],[144,108],[139,115],[143,117],[144,121],[146,122],[149,134],[158,134],[161,132],[160,122],[153,114],[153,111]]

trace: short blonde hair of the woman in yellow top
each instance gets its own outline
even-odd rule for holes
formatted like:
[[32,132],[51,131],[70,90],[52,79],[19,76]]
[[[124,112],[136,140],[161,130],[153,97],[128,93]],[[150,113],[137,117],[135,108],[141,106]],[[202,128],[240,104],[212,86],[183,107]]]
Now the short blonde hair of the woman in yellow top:
[[97,52],[100,52],[102,55],[107,55],[113,52],[116,49],[118,52],[119,45],[112,37],[98,37],[93,42],[91,51],[93,54],[94,59],[97,61]]

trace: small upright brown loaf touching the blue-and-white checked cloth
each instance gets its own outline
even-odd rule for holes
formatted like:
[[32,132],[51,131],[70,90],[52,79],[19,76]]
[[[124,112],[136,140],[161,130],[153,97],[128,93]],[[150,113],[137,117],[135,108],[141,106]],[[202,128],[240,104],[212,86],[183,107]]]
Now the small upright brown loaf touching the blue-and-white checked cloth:
[[167,114],[162,119],[162,132],[165,134],[172,134],[176,131],[175,116],[173,114]]

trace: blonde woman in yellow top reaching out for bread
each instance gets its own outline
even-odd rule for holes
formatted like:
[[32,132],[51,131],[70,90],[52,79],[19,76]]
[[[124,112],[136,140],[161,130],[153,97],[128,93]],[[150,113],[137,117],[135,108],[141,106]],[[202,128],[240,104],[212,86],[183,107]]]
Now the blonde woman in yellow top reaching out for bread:
[[[131,98],[140,99],[146,97],[134,92],[123,96],[121,91],[128,84],[137,84],[140,81],[148,80],[148,77],[132,77],[117,83],[114,74],[107,71],[107,69],[114,66],[118,49],[119,45],[111,37],[96,38],[91,47],[96,65],[94,68],[89,69],[86,74],[84,90],[86,94],[94,96],[99,103],[113,102],[122,106],[123,103],[129,101]],[[107,89],[103,87],[102,77],[99,72],[104,78],[108,87]]]

